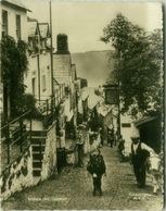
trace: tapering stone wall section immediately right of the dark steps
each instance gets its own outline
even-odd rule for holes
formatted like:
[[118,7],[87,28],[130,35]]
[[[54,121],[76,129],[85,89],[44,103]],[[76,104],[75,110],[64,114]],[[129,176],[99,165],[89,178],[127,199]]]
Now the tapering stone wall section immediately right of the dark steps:
[[49,178],[55,171],[56,171],[56,136],[54,122],[47,133],[46,149],[41,170],[41,181]]

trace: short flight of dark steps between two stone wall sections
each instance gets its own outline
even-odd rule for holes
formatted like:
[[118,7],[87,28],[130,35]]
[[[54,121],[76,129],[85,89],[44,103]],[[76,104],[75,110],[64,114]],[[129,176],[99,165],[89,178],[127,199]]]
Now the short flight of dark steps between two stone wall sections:
[[33,149],[33,176],[41,175],[42,161],[46,148],[47,132],[31,132],[31,149]]

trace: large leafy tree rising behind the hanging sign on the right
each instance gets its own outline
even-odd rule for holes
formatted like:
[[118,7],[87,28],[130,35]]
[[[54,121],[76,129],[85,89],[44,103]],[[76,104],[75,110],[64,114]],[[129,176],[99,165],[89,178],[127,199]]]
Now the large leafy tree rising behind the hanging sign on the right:
[[119,84],[122,112],[157,115],[161,113],[163,45],[161,30],[148,34],[117,14],[101,38],[114,47],[114,82]]

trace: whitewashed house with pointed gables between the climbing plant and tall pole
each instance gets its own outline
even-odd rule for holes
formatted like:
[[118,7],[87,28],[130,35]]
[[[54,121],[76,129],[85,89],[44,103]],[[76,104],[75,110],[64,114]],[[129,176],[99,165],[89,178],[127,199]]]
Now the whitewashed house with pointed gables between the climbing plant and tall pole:
[[25,75],[26,92],[37,100],[47,100],[51,96],[50,32],[48,23],[27,20],[28,72]]

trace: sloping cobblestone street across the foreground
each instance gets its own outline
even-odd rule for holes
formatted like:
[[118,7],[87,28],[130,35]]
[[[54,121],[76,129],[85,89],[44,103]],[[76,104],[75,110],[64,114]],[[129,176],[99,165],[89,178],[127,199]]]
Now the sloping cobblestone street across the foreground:
[[[130,164],[118,161],[115,148],[103,147],[101,151],[107,167],[102,197],[92,196],[92,178],[86,167],[66,167],[55,178],[9,198],[2,203],[3,210],[162,210],[162,194],[154,196],[151,186],[139,189]],[[133,200],[135,195],[140,198]]]

